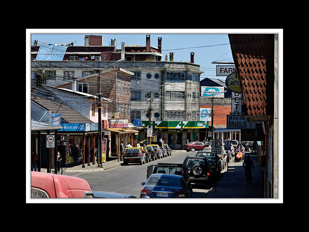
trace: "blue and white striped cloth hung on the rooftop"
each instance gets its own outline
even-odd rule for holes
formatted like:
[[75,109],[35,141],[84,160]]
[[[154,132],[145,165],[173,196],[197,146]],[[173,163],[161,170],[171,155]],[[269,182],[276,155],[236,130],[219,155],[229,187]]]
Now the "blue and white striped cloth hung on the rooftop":
[[61,61],[67,48],[67,46],[41,45],[35,60]]

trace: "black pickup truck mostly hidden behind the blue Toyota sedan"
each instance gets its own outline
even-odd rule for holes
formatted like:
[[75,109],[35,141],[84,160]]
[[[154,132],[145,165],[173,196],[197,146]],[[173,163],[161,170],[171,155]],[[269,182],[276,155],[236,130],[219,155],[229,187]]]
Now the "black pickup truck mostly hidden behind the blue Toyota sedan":
[[189,179],[189,168],[183,166],[182,164],[171,164],[171,163],[158,163],[157,165],[149,165],[147,168],[147,179],[151,174],[154,173],[163,173],[163,174],[175,174],[183,176],[185,181],[188,184],[188,187],[193,194],[191,182]]

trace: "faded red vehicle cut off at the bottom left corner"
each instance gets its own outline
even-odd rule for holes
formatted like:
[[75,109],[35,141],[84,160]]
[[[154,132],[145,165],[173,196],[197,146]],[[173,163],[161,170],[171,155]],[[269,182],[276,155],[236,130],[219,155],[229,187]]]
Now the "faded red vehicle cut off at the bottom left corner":
[[93,193],[82,178],[32,171],[31,198],[93,198]]

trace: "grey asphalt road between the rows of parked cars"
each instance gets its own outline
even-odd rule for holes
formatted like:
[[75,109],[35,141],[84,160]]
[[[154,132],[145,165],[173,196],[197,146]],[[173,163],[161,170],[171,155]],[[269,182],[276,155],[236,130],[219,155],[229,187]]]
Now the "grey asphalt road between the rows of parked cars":
[[[157,164],[158,162],[182,163],[187,155],[195,156],[196,152],[173,151],[171,156],[151,161],[143,165],[129,164],[100,172],[64,172],[63,174],[85,179],[89,183],[92,191],[130,194],[139,198],[143,188],[141,183],[147,180],[148,165]],[[211,188],[207,188],[202,184],[193,185],[193,198],[203,198],[205,193],[210,191],[210,189]]]

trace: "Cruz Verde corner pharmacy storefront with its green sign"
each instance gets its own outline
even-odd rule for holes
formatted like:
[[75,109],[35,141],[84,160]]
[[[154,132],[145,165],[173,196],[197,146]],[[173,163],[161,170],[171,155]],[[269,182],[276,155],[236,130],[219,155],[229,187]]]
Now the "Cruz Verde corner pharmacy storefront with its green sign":
[[[143,130],[140,130],[140,139],[147,139],[149,121],[142,121]],[[208,128],[206,121],[152,121],[153,136],[156,141],[161,137],[172,149],[182,149],[188,140],[200,141],[199,131]]]

